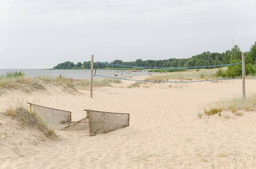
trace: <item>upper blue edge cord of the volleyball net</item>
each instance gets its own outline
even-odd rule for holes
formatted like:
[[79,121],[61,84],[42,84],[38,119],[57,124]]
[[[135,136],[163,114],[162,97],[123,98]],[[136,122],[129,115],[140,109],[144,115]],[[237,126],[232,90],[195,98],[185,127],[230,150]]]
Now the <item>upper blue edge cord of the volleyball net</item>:
[[112,63],[102,63],[102,62],[96,62],[96,63],[100,63],[100,64],[108,64],[108,65],[114,65],[114,66],[123,66],[123,67],[141,67],[141,68],[156,68],[156,69],[219,67],[219,66],[228,66],[228,65],[242,64],[242,63],[230,63],[230,64],[209,65],[209,66],[188,66],[188,67],[150,67],[150,66],[132,66],[132,65],[122,65],[122,64],[112,64]]

